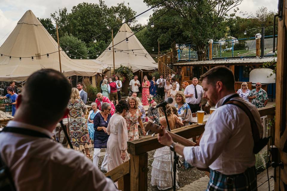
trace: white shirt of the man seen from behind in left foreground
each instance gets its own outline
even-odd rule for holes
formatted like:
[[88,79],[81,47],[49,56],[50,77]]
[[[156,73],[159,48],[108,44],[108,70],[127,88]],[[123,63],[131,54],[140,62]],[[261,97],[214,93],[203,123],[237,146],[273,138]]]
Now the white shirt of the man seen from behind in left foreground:
[[[7,127],[35,130],[41,127],[10,121]],[[26,190],[117,190],[111,179],[81,152],[66,149],[49,138],[0,133],[0,152],[9,167],[17,191]]]

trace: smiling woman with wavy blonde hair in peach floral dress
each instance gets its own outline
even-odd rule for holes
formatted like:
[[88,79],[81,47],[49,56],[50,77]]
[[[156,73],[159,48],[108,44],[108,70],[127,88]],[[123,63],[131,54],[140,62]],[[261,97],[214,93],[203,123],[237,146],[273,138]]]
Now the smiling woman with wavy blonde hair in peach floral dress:
[[142,113],[140,108],[138,108],[138,101],[134,97],[129,97],[127,101],[129,103],[129,110],[125,116],[126,127],[128,130],[129,141],[133,141],[139,138],[138,123],[140,124],[144,136],[146,135],[146,132],[144,130],[143,122],[141,121]]

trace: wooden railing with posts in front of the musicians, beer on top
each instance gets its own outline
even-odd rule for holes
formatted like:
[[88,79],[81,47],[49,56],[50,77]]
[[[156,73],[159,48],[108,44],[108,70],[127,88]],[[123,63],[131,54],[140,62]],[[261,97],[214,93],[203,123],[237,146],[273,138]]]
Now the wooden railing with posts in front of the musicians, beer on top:
[[[272,135],[274,137],[274,115],[275,107],[263,107],[258,109],[260,116],[268,116],[269,131],[268,136]],[[199,136],[204,132],[204,126],[198,124],[192,124],[186,127],[181,127],[172,130],[172,133],[180,135],[184,138],[192,138]],[[269,141],[268,148],[271,144]],[[106,176],[110,176],[114,182],[118,182],[119,190],[147,190],[148,185],[148,154],[147,152],[163,147],[158,142],[157,136],[155,137],[145,137],[140,138],[135,141],[128,142],[128,153],[130,154],[130,160],[121,164],[114,170],[107,172]]]

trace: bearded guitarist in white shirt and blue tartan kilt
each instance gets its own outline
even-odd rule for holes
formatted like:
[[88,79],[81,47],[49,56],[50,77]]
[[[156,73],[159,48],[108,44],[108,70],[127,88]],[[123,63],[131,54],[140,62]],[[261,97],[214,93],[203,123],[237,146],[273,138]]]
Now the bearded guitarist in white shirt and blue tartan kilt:
[[214,67],[201,76],[203,97],[216,110],[204,127],[199,146],[184,147],[172,141],[164,130],[158,141],[172,146],[192,166],[210,169],[207,190],[257,190],[254,139],[248,115],[233,104],[224,104],[228,99],[243,102],[254,116],[259,135],[263,127],[254,105],[238,97],[234,89],[234,75],[227,67]]

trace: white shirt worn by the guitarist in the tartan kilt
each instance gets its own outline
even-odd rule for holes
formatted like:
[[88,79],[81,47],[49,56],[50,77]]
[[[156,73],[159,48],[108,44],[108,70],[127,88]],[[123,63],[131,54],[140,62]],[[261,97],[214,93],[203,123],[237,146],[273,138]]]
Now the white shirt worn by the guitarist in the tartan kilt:
[[[220,99],[216,110],[210,115],[204,127],[199,146],[184,147],[185,160],[195,167],[216,170],[225,175],[244,172],[255,165],[253,137],[248,116],[239,107],[231,104],[222,105],[228,96]],[[254,115],[260,137],[263,126],[260,115],[254,105],[240,100]]]

